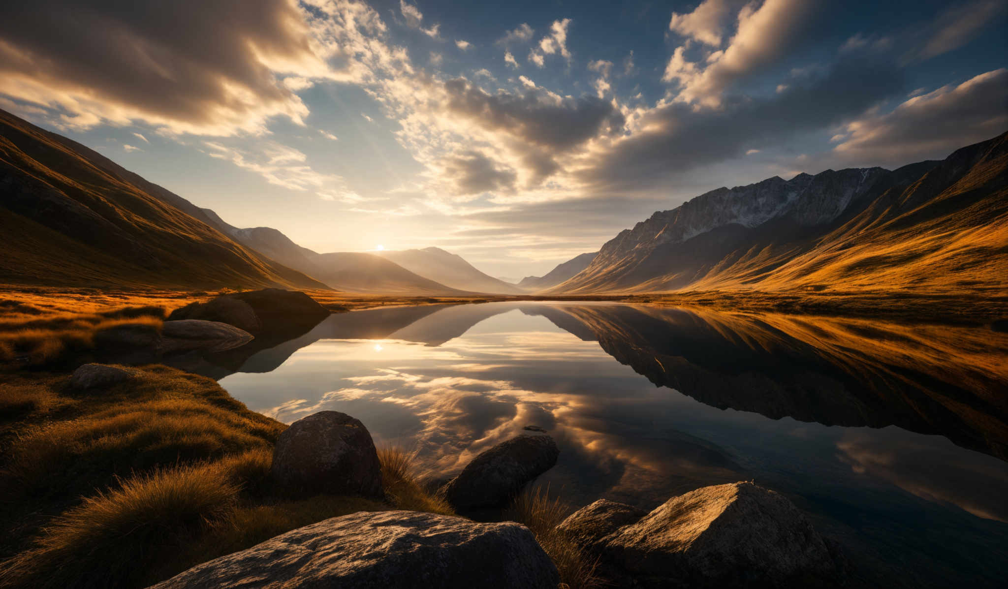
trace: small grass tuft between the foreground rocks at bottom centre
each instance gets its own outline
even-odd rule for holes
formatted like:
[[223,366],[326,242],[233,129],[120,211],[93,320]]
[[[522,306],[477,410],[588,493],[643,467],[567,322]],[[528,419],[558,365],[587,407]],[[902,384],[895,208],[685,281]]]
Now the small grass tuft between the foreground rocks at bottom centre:
[[585,554],[575,543],[556,533],[556,526],[574,511],[572,505],[549,496],[549,487],[525,490],[514,498],[508,515],[524,524],[535,536],[560,574],[560,586],[570,589],[594,589],[605,585],[596,575],[598,559]]

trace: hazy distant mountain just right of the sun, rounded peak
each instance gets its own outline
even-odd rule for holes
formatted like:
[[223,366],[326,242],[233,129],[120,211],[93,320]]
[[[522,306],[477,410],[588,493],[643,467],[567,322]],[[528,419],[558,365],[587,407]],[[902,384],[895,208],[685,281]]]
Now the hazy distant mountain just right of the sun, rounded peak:
[[437,247],[375,253],[411,272],[453,288],[494,294],[517,294],[523,291],[514,284],[481,272],[462,256]]

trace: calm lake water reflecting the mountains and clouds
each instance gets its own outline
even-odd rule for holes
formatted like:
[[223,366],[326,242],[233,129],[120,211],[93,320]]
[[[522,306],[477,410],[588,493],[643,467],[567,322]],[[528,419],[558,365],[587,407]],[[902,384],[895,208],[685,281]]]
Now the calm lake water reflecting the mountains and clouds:
[[577,505],[755,480],[843,544],[865,585],[993,587],[1008,575],[1005,337],[493,303],[334,315],[203,371],[283,422],[352,415],[431,477],[538,426],[561,449],[539,482]]

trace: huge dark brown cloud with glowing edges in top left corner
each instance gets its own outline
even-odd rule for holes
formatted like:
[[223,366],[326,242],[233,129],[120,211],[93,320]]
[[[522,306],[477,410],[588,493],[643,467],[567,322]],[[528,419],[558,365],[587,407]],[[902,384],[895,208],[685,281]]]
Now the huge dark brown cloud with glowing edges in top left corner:
[[[227,15],[226,18],[221,15]],[[142,121],[169,133],[263,133],[307,108],[276,73],[336,76],[288,0],[39,0],[0,19],[0,94],[85,129]]]

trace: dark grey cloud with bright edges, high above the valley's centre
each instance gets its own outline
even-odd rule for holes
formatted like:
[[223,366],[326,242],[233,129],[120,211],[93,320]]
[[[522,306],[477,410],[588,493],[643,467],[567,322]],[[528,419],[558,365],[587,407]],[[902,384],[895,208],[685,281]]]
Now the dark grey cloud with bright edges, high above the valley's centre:
[[560,98],[538,89],[524,94],[488,94],[463,79],[446,82],[445,89],[450,112],[539,147],[570,149],[623,128],[623,115],[594,96]]

